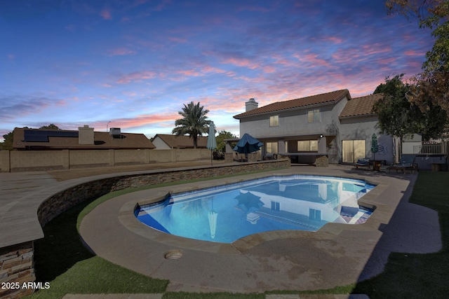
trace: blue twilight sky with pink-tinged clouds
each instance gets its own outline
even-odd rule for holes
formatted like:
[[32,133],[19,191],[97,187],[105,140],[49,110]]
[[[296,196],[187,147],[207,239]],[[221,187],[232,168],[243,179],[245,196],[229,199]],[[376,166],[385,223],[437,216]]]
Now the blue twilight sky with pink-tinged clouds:
[[381,0],[1,0],[0,141],[50,123],[171,134],[191,101],[239,135],[251,97],[369,95],[432,45]]

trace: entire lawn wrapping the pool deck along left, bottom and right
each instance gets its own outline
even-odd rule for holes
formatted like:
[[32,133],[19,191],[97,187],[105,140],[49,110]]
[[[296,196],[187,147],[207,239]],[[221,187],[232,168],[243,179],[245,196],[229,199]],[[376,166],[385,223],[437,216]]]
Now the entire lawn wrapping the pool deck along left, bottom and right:
[[[214,178],[216,179],[216,178]],[[203,179],[198,181],[204,181]],[[192,181],[189,181],[192,182]],[[391,253],[382,274],[349,286],[318,291],[269,291],[267,294],[365,293],[370,298],[447,298],[449,293],[449,172],[420,172],[410,202],[438,211],[443,249],[437,253]],[[184,182],[177,182],[184,183]],[[167,183],[164,185],[173,185]],[[151,186],[149,188],[161,187]],[[114,265],[83,246],[77,227],[98,204],[133,190],[109,193],[56,217],[36,241],[37,281],[51,288],[30,298],[62,298],[66,293],[164,293],[163,298],[264,298],[264,294],[165,292],[168,281],[152,279]]]

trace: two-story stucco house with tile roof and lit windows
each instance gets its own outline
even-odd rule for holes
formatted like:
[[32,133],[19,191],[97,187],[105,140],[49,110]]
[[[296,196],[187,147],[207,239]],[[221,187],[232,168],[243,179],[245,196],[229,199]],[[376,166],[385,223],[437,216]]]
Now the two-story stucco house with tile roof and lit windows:
[[258,107],[246,102],[240,120],[240,135],[248,133],[264,143],[267,153],[328,153],[330,163],[356,162],[371,158],[371,141],[377,135],[376,160],[393,162],[393,141],[379,134],[373,104],[383,95],[352,98],[349,90],[275,102]]

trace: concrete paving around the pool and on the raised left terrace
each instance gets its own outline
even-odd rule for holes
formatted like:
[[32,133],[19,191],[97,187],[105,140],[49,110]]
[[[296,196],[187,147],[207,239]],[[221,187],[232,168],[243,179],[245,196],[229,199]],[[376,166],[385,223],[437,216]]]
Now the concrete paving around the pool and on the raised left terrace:
[[[155,167],[194,167],[207,163]],[[146,170],[151,171],[142,167],[113,169],[120,172],[117,175]],[[17,215],[8,215],[8,211],[17,211],[16,207],[23,209],[23,213],[27,209],[35,209],[33,204],[29,204],[34,195],[62,190],[65,186],[111,172],[112,169],[105,168],[0,174],[2,228],[13,228],[14,221],[19,219]],[[377,211],[363,225],[342,227],[341,224],[330,223],[319,232],[274,232],[253,235],[232,245],[203,244],[150,232],[150,228],[140,226],[142,223],[133,222],[126,210],[123,216],[121,210],[126,204],[142,200],[142,193],[129,193],[101,204],[88,214],[81,224],[81,235],[95,253],[113,263],[154,278],[170,279],[167,291],[245,293],[328,288],[379,274],[392,251],[429,253],[441,249],[436,212],[408,203],[417,174],[368,172],[345,165],[323,168],[292,166],[271,173],[288,172],[356,177],[380,183],[382,188],[368,193],[372,198],[364,197],[377,207]],[[236,178],[241,180],[243,176]],[[169,189],[220,183],[223,180]],[[154,189],[152,192],[163,193],[166,190]],[[6,230],[1,232],[1,237],[6,241]],[[164,258],[170,250],[182,251],[182,257],[177,260]]]

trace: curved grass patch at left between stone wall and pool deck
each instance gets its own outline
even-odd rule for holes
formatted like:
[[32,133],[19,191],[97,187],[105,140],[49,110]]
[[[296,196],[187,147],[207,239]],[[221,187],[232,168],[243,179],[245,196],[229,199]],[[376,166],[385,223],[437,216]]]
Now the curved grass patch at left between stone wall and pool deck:
[[76,221],[88,202],[54,218],[35,242],[37,281],[50,281],[29,298],[62,298],[67,293],[163,293],[168,281],[152,279],[94,256],[83,245]]

